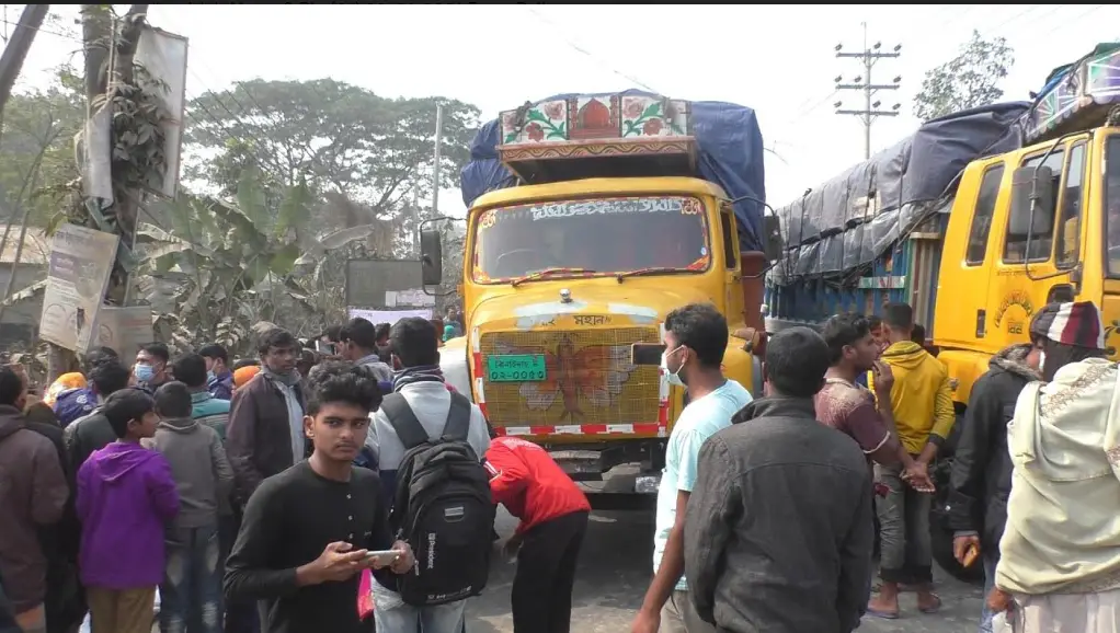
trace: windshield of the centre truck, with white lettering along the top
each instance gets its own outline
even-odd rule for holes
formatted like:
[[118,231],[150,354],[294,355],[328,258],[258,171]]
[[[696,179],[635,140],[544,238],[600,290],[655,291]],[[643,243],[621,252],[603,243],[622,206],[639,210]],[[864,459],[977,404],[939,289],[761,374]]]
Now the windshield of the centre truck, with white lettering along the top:
[[[643,268],[707,271],[703,204],[689,196],[590,198],[488,209],[478,219],[472,278],[502,283]],[[528,280],[526,280],[528,281]]]

